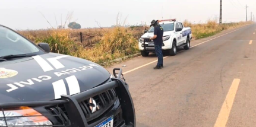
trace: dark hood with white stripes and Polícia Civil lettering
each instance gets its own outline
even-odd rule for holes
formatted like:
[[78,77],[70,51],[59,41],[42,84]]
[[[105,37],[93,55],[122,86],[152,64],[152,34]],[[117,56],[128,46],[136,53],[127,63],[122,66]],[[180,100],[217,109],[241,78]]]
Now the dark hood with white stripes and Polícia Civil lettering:
[[59,99],[109,80],[96,63],[73,56],[47,53],[0,62],[0,103]]

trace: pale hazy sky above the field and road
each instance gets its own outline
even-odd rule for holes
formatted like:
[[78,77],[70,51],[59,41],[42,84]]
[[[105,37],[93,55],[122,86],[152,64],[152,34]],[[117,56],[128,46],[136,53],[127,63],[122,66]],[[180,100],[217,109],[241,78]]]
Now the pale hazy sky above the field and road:
[[[223,0],[223,23],[245,21],[246,4],[248,20],[251,12],[256,19],[256,0]],[[0,24],[14,30],[56,27],[71,12],[70,21],[82,28],[110,27],[118,14],[119,22],[126,25],[169,18],[205,23],[219,20],[220,0],[0,0]]]

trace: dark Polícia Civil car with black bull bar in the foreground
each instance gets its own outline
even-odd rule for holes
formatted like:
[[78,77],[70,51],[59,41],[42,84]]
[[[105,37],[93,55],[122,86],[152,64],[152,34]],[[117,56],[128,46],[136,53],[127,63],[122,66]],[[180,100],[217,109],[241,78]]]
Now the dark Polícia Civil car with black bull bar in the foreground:
[[122,69],[113,75],[0,25],[0,126],[135,126]]

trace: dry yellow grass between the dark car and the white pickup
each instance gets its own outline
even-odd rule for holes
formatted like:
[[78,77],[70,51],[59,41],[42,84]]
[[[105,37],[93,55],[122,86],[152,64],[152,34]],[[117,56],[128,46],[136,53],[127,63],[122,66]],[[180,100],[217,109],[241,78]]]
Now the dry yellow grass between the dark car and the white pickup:
[[[77,56],[100,65],[137,53],[138,42],[134,35],[141,36],[141,34],[138,35],[138,31],[121,26],[104,29],[51,29],[19,32],[33,42],[49,43],[51,52]],[[80,42],[80,32],[84,35],[83,40],[87,42]]]

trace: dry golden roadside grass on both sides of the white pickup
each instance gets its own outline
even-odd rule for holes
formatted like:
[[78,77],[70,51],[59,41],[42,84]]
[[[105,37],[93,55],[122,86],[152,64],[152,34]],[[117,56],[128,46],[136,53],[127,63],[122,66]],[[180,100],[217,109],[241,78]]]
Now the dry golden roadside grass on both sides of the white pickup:
[[[192,24],[184,21],[185,27],[191,27],[192,38],[201,39],[213,36],[222,30],[251,24],[252,22],[228,23],[219,25],[209,20],[206,24]],[[18,31],[35,43],[46,42],[51,52],[77,56],[89,61],[106,64],[117,58],[138,53],[138,39],[144,34],[145,27],[87,28],[80,30],[49,29]],[[83,43],[80,42],[80,32]]]

